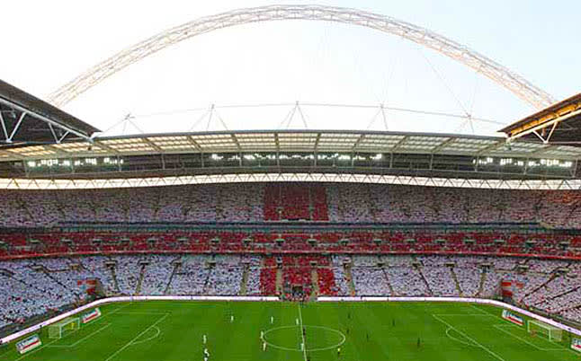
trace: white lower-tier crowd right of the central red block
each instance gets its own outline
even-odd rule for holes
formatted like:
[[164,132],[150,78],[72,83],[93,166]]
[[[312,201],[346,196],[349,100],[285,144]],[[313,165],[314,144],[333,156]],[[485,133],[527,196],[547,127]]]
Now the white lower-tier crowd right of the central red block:
[[502,295],[501,281],[509,281],[514,303],[581,321],[581,266],[575,261],[437,255],[339,260],[335,256],[335,282],[346,284],[350,269],[357,295],[488,298]]

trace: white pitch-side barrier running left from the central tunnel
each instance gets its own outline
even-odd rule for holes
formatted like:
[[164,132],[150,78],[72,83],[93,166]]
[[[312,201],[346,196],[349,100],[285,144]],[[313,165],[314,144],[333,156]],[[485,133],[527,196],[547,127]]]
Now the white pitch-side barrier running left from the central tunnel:
[[41,328],[48,326],[51,323],[58,322],[61,320],[70,317],[76,313],[82,313],[85,310],[90,308],[96,307],[101,304],[112,304],[115,302],[140,302],[140,301],[279,301],[279,297],[273,296],[206,296],[206,295],[133,295],[133,296],[121,296],[121,297],[109,297],[103,298],[101,300],[97,300],[92,302],[91,304],[85,304],[84,306],[78,307],[74,310],[68,311],[67,313],[59,314],[56,317],[53,317],[47,321],[42,321],[40,323],[35,324],[27,329],[20,330],[18,332],[13,333],[12,335],[8,335],[3,339],[0,339],[0,344],[5,344],[14,339],[19,339],[24,335],[27,335],[31,332],[36,330],[40,330]]

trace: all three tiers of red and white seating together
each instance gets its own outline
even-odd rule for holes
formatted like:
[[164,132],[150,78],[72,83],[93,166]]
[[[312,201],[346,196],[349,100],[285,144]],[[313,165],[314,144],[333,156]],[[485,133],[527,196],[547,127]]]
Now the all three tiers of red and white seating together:
[[[0,201],[0,268],[13,272],[0,276],[0,324],[79,301],[79,279],[101,280],[108,295],[237,295],[241,286],[274,295],[277,272],[306,295],[315,286],[320,295],[490,297],[512,280],[515,302],[581,321],[581,236],[559,230],[581,228],[579,190],[251,183],[0,190]],[[86,222],[132,232],[81,231]]]

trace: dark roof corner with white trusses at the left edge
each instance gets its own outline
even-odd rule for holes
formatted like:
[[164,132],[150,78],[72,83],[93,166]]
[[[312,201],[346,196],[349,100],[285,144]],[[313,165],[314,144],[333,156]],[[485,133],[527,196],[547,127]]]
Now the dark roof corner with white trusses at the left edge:
[[90,140],[99,129],[0,80],[0,150],[14,145]]

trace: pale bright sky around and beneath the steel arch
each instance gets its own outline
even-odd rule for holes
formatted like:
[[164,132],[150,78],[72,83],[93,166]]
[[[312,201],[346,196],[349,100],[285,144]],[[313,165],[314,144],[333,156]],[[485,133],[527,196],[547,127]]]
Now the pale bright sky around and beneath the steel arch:
[[[9,34],[3,37],[0,78],[43,97],[87,67],[156,32],[203,15],[278,2],[201,3],[11,2],[3,8],[10,16],[0,23],[0,31]],[[558,100],[581,92],[581,2],[317,4],[383,13],[441,33],[523,75]],[[112,76],[64,109],[102,129],[127,113],[141,114],[144,117],[136,119],[140,128],[160,132],[220,128],[205,119],[196,123],[202,111],[177,110],[211,103],[293,101],[466,110],[503,124],[533,111],[513,94],[431,50],[377,31],[322,22],[245,25],[187,40]],[[150,116],[158,112],[172,114]],[[288,108],[219,110],[219,115],[228,128],[276,128],[288,112]],[[376,110],[305,108],[304,112],[310,128],[382,128],[380,120],[372,121]],[[461,119],[400,112],[390,112],[388,118],[391,130],[471,133]],[[290,128],[299,127],[300,121],[293,119]],[[498,128],[477,124],[475,133],[491,134]],[[121,131],[114,128],[112,134]]]

